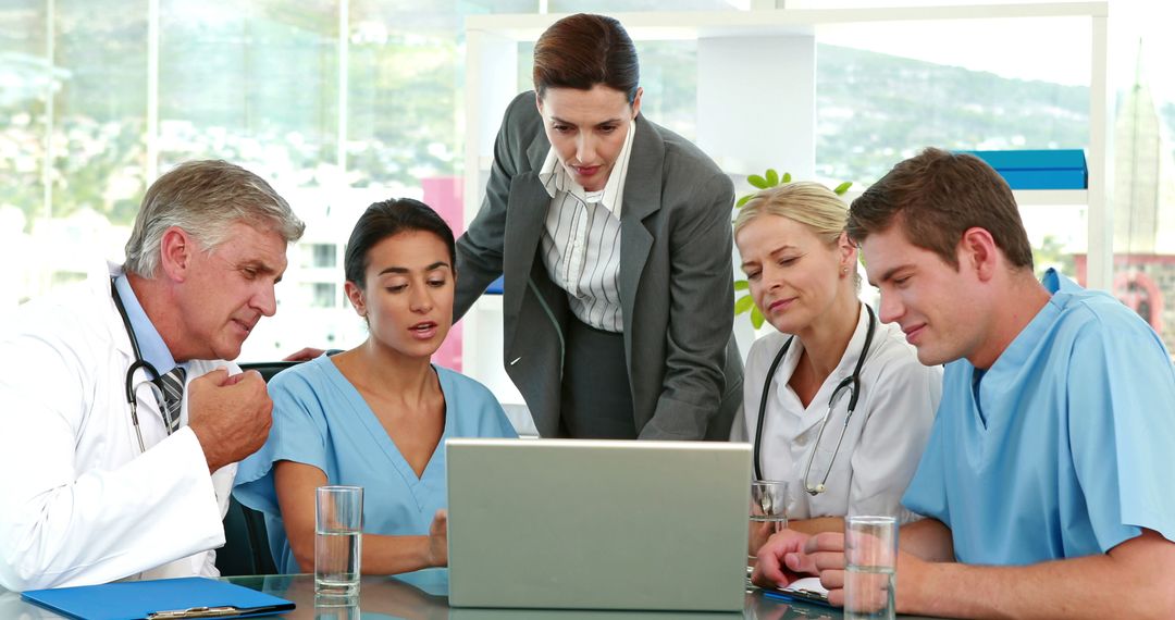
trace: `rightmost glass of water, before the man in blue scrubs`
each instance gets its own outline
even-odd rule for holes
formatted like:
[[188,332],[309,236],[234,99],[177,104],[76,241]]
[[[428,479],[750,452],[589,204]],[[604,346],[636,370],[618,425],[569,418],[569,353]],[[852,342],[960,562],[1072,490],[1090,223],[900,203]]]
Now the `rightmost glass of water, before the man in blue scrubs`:
[[845,518],[845,618],[894,618],[898,519]]

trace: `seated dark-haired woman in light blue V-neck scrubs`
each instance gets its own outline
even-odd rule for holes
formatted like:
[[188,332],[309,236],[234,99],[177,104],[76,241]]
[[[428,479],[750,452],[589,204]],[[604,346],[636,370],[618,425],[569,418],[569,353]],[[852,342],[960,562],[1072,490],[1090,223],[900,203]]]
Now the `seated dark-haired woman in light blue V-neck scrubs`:
[[236,497],[266,514],[282,573],[314,571],[314,490],[364,487],[362,571],[448,564],[444,440],[517,437],[494,395],[431,364],[452,325],[452,230],[414,200],[377,202],[347,244],[347,297],[368,339],[269,382],[269,440]]

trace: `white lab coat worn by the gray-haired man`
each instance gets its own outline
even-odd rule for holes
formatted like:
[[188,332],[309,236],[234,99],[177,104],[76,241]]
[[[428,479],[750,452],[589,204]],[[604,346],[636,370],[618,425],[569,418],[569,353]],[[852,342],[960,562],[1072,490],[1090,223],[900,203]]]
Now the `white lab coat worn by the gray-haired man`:
[[[195,433],[167,436],[141,389],[140,453],[125,379],[133,352],[108,265],[19,310],[0,339],[0,586],[217,575],[236,465],[213,476]],[[226,362],[190,362],[188,380]],[[143,372],[135,373],[135,382]],[[187,391],[184,392],[187,395]]]

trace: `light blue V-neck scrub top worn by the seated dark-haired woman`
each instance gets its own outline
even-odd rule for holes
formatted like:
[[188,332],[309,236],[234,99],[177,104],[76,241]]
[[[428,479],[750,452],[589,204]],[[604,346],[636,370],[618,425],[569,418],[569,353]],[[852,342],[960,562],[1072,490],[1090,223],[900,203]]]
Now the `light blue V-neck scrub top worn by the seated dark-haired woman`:
[[448,504],[444,440],[450,437],[517,437],[502,405],[482,384],[434,366],[445,398],[444,434],[417,478],[355,386],[322,356],[269,382],[274,426],[260,451],[241,461],[237,500],[266,515],[269,548],[282,573],[302,572],[290,551],[274,490],[273,464],[318,467],[330,484],[363,487],[363,531],[424,535]]

